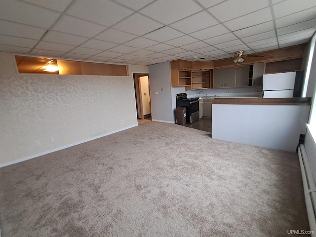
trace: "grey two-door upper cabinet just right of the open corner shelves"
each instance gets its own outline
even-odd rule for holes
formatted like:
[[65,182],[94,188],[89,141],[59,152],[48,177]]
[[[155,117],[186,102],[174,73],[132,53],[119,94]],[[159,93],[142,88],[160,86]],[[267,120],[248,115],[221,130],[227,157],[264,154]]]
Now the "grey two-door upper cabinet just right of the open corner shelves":
[[214,70],[213,88],[235,87],[236,67]]

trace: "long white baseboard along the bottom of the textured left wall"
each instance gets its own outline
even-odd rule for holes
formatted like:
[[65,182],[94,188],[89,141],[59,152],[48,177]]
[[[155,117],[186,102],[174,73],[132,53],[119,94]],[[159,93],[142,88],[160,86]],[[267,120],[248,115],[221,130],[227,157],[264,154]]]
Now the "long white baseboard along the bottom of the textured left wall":
[[10,161],[10,162],[7,162],[7,163],[3,163],[3,164],[0,164],[0,168],[1,168],[1,167],[4,167],[4,166],[8,166],[8,165],[10,165],[10,164],[19,163],[19,162],[22,162],[22,161],[25,161],[25,160],[28,160],[28,159],[33,159],[33,158],[36,158],[36,157],[40,157],[40,156],[43,156],[43,155],[46,155],[46,154],[49,154],[49,153],[52,153],[52,152],[57,152],[57,151],[60,151],[60,150],[63,150],[63,149],[69,148],[69,147],[73,147],[73,146],[79,145],[79,144],[81,144],[81,143],[85,143],[85,142],[88,142],[88,141],[92,141],[92,140],[94,140],[94,139],[98,139],[98,138],[101,138],[101,137],[105,137],[105,136],[108,136],[108,135],[110,135],[110,134],[117,133],[117,132],[120,132],[120,131],[129,129],[129,128],[132,128],[132,127],[136,127],[136,126],[137,126],[137,124],[134,124],[134,125],[131,125],[131,126],[128,126],[128,127],[124,127],[124,128],[121,128],[121,129],[112,131],[112,132],[108,132],[108,133],[105,133],[105,134],[96,136],[96,137],[92,137],[92,138],[89,138],[89,139],[85,139],[85,140],[83,140],[83,141],[79,141],[79,142],[76,142],[76,143],[73,143],[73,144],[69,144],[69,145],[66,145],[66,146],[63,146],[63,147],[55,148],[55,149],[53,149],[53,150],[41,152],[41,153],[38,153],[38,154],[35,154],[35,155],[32,155],[32,156],[28,156],[28,157],[25,157],[25,158],[16,159],[16,160],[13,160],[13,161]]

